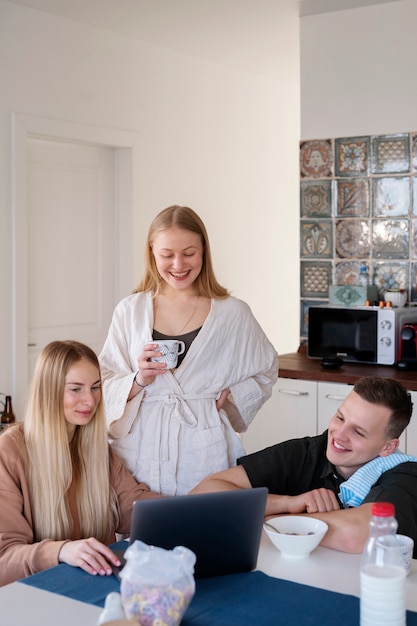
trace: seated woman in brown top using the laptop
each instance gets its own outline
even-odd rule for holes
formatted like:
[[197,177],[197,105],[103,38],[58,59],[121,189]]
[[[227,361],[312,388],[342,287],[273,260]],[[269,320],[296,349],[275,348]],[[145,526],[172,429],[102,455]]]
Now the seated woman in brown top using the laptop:
[[0,436],[0,585],[60,562],[110,575],[108,544],[129,532],[134,500],[152,497],[109,447],[96,354],[47,345],[23,423]]

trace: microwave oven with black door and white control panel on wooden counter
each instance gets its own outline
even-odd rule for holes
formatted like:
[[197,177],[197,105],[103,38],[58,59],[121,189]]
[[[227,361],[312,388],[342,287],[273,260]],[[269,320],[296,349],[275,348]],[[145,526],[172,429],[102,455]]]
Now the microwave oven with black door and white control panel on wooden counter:
[[411,307],[310,306],[307,355],[328,367],[344,361],[395,365],[401,325],[413,320]]

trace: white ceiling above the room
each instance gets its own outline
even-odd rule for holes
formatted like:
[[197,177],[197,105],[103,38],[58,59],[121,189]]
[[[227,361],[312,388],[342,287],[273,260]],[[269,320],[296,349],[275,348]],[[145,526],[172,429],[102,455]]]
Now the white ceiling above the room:
[[286,54],[295,16],[399,0],[7,1],[186,54],[277,76],[277,59]]

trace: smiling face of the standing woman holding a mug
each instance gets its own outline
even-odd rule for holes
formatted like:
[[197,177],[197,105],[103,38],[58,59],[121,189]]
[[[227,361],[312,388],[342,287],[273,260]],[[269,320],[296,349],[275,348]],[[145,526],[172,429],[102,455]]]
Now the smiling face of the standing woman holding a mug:
[[155,237],[152,246],[156,267],[174,289],[191,287],[203,266],[203,244],[197,233],[167,228]]

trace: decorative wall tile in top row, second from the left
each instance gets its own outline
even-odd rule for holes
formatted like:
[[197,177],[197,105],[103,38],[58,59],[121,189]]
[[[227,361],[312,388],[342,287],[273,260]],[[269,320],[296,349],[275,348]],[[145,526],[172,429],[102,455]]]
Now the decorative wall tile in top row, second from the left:
[[367,176],[370,161],[369,146],[369,137],[336,139],[336,176]]

